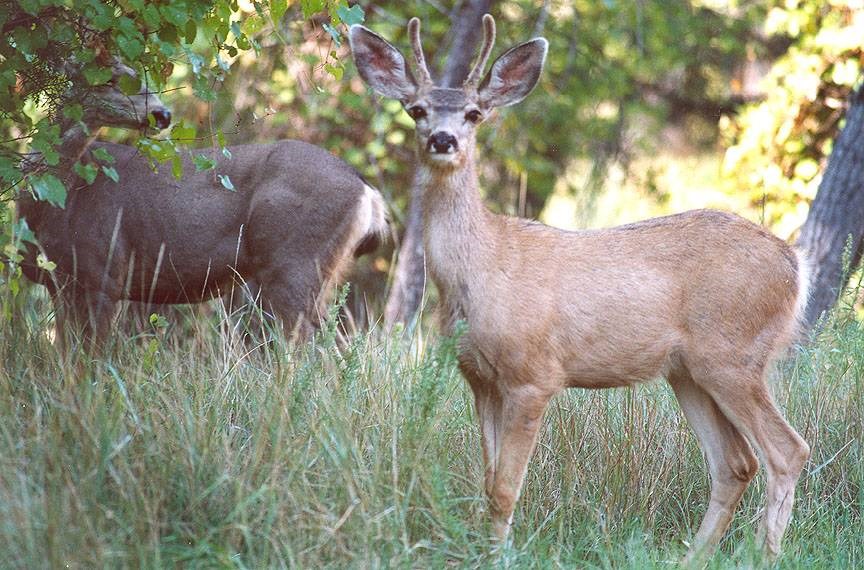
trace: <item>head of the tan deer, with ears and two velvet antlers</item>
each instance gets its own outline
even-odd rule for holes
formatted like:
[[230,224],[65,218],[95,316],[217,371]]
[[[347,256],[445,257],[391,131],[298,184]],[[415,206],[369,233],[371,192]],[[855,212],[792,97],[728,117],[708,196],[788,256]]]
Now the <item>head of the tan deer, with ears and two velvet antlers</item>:
[[540,77],[548,42],[536,38],[505,52],[480,81],[495,41],[492,16],[486,14],[483,25],[480,59],[461,89],[433,83],[420,46],[417,18],[411,19],[408,31],[419,79],[408,69],[399,50],[387,40],[363,26],[351,26],[351,52],[360,76],[375,92],[402,102],[416,124],[418,155],[430,166],[444,168],[464,164],[473,153],[477,125],[496,107],[513,105],[524,99]]

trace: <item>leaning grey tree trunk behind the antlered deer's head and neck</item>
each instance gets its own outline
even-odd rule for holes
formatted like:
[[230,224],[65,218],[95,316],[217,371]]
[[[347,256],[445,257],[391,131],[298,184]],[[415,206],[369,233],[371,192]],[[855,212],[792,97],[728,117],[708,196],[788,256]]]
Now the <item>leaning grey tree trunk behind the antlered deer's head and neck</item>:
[[[453,43],[447,54],[441,84],[458,87],[468,77],[476,55],[477,43],[483,37],[483,14],[491,0],[466,0],[452,18]],[[417,315],[426,289],[426,257],[423,253],[423,215],[420,211],[420,187],[417,177],[411,185],[411,203],[405,218],[405,235],[393,275],[393,285],[384,309],[387,327],[410,324]]]

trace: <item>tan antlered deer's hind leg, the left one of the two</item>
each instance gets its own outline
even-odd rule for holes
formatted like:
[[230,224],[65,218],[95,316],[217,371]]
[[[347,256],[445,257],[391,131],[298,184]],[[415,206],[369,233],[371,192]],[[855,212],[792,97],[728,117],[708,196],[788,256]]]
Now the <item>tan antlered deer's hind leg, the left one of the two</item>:
[[705,452],[711,474],[708,510],[683,560],[684,566],[701,566],[729,527],[759,462],[747,440],[686,369],[670,374],[669,384]]

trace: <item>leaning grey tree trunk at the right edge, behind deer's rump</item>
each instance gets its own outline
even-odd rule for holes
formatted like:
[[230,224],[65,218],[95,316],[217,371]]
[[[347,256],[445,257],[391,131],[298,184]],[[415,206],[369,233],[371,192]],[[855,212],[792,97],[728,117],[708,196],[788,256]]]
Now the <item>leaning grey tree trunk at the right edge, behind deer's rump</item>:
[[[804,319],[808,329],[837,302],[846,285],[846,270],[861,259],[864,237],[864,89],[850,96],[846,126],[834,150],[797,245],[812,264],[810,301]],[[851,242],[850,266],[843,252]]]

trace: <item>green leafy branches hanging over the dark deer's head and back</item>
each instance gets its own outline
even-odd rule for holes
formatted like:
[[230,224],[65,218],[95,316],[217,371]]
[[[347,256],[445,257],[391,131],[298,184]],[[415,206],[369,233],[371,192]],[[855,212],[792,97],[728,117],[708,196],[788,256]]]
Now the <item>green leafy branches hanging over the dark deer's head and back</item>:
[[[275,30],[289,8],[288,0],[251,3],[242,10],[236,0],[16,0],[0,7],[0,189],[6,199],[26,187],[36,199],[57,207],[66,202],[67,173],[60,168],[59,148],[63,131],[83,122],[82,101],[90,91],[112,81],[111,65],[119,58],[134,66],[147,88],[165,91],[176,68],[199,102],[212,102],[218,85],[243,52],[260,51],[259,37]],[[304,0],[302,14],[311,18],[323,11],[327,29],[337,44],[343,23],[363,20],[363,10],[347,0]],[[88,86],[70,89],[70,64],[80,66]],[[335,52],[326,58],[327,69],[341,76],[342,63]],[[141,89],[139,81],[122,77],[117,85],[130,95]],[[143,133],[142,133],[143,134]],[[181,146],[202,141],[225,147],[221,130],[199,133],[194,124],[177,122],[164,138],[142,136],[138,149],[154,168],[170,165],[181,178]],[[228,153],[227,150],[224,152]],[[36,157],[36,158],[34,158]],[[74,173],[92,183],[99,173],[118,182],[114,158],[94,153],[87,164],[76,162]],[[33,166],[33,165],[37,166]],[[198,169],[212,163],[197,157]],[[68,168],[68,166],[67,166]],[[222,184],[233,189],[226,176]],[[4,211],[4,218],[9,212]],[[0,246],[8,260],[20,257],[10,235],[11,224],[0,225]],[[4,267],[0,264],[0,268]],[[15,280],[17,273],[6,278]]]

